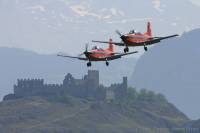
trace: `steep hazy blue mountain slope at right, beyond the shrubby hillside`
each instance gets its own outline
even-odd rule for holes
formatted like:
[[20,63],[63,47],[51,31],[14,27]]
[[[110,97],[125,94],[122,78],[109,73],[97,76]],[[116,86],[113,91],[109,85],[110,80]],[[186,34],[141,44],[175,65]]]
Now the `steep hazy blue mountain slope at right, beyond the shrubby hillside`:
[[138,61],[132,85],[162,92],[193,119],[200,116],[200,29],[152,47]]

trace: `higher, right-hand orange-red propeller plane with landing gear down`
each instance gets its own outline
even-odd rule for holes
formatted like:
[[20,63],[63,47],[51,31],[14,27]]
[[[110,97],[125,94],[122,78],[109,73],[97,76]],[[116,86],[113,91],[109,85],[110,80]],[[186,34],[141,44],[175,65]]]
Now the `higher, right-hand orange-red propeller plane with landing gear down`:
[[[116,33],[120,36],[122,42],[113,42],[114,45],[117,46],[125,46],[124,52],[129,52],[129,47],[136,47],[136,46],[144,46],[144,50],[148,51],[147,45],[152,45],[155,43],[159,43],[164,39],[172,38],[179,36],[178,34],[170,35],[166,37],[153,37],[152,35],[152,27],[151,23],[147,23],[147,32],[144,34],[140,32],[136,32],[135,30],[131,30],[128,34],[121,34],[118,30]],[[92,41],[96,43],[108,43],[106,41]]]

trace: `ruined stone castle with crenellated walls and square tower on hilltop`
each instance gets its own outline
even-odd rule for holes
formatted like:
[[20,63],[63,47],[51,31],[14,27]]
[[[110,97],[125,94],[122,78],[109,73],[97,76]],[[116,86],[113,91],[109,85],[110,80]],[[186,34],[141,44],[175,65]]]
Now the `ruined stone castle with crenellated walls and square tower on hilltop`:
[[88,74],[82,79],[75,79],[68,73],[63,84],[44,84],[44,79],[18,79],[14,85],[14,94],[5,96],[4,100],[63,94],[85,99],[112,100],[123,98],[126,93],[127,77],[123,77],[121,84],[104,87],[99,83],[99,71],[88,70]]

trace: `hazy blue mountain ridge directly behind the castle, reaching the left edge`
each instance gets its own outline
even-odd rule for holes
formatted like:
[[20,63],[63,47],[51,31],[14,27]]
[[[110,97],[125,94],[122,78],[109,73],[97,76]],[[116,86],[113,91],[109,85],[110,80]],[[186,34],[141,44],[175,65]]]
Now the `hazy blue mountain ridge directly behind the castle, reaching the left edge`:
[[[18,78],[44,78],[45,83],[62,83],[65,75],[71,73],[82,78],[87,73],[86,62],[56,55],[41,55],[16,48],[0,48],[0,98],[11,93]],[[135,58],[123,58],[110,62],[92,63],[91,69],[100,70],[101,84],[110,85],[122,81],[122,76],[131,76],[136,64]]]

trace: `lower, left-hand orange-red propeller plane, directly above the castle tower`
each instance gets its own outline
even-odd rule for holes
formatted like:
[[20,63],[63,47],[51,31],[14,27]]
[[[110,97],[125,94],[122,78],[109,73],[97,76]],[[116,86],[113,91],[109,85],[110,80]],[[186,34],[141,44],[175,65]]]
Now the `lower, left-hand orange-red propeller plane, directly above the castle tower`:
[[[109,40],[109,47],[107,49],[102,49],[98,46],[94,46],[90,51],[88,51],[88,44],[86,44],[85,51],[77,57],[63,55],[63,54],[58,54],[57,56],[88,61],[87,67],[91,67],[92,61],[105,61],[106,66],[109,66],[108,61],[119,59],[122,56],[135,54],[135,53],[137,53],[137,51],[129,52],[129,53],[115,53],[114,48],[113,48],[113,44],[112,44],[112,39],[110,39]],[[85,57],[81,57],[82,55],[85,55]]]

